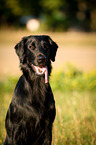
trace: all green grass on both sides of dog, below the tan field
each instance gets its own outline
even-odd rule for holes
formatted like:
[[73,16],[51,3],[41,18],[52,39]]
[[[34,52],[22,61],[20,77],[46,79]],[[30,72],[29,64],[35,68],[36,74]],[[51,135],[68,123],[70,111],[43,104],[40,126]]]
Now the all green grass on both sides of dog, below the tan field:
[[[83,73],[69,65],[50,79],[56,101],[52,145],[96,145],[96,72]],[[7,77],[0,82],[0,145],[17,81]]]

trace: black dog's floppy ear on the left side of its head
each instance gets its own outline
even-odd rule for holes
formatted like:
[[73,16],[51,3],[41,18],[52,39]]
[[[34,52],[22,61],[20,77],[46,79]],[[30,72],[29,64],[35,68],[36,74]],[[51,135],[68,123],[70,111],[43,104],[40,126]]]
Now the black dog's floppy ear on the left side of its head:
[[16,44],[15,51],[20,59],[20,63],[24,60],[24,51],[25,51],[25,42],[27,40],[27,37],[23,37],[22,40]]

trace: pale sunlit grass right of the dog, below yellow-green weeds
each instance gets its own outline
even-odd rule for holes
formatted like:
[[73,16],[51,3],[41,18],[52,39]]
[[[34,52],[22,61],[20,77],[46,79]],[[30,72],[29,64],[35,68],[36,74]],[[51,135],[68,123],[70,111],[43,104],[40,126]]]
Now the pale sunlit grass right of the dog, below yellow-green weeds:
[[55,93],[57,115],[53,127],[53,145],[95,145],[96,93]]

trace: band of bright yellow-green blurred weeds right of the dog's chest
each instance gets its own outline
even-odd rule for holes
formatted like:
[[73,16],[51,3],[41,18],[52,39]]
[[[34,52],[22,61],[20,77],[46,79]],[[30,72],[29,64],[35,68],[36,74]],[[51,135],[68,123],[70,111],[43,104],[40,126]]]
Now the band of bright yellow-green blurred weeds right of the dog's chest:
[[70,64],[67,65],[66,69],[62,68],[62,70],[52,73],[51,84],[54,91],[96,90],[96,71],[84,73]]

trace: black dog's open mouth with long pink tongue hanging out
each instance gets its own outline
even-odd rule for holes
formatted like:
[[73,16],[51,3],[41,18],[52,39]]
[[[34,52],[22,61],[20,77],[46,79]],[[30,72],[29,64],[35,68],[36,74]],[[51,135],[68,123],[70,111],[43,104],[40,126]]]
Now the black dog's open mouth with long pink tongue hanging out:
[[48,83],[48,68],[45,67],[39,67],[32,64],[33,70],[36,72],[37,75],[43,75],[45,74],[45,83]]

